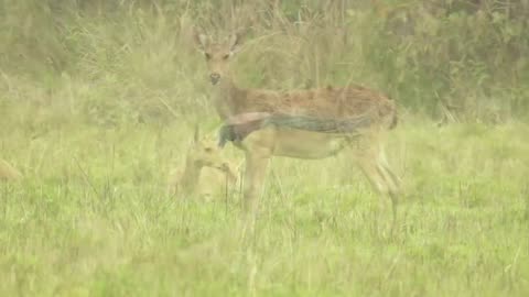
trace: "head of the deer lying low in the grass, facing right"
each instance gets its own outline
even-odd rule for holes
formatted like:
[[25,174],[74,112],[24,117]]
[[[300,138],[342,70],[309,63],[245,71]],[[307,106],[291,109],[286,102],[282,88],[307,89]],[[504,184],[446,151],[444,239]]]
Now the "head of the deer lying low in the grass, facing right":
[[212,138],[201,138],[196,128],[186,158],[195,167],[213,167],[231,174],[231,165],[223,155],[216,141]]

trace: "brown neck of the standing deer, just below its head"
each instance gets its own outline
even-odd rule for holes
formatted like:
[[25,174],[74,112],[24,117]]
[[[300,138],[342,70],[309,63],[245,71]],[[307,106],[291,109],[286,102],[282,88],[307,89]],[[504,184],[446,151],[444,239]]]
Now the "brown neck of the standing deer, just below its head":
[[223,120],[235,116],[241,109],[246,91],[238,88],[230,76],[224,77],[215,88],[214,106]]

